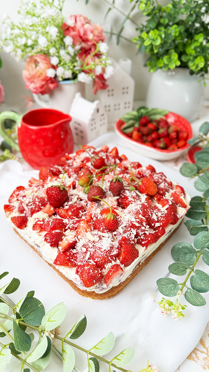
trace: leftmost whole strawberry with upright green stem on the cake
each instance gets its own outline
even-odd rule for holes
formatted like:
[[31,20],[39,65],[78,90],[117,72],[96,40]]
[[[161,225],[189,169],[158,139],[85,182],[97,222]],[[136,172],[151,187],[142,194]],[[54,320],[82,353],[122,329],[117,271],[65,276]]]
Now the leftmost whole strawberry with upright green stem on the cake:
[[48,201],[50,205],[53,206],[53,208],[60,208],[68,199],[68,191],[65,186],[62,186],[62,180],[63,180],[64,174],[65,174],[65,171],[62,175],[60,185],[50,186],[46,189],[46,195],[47,195]]

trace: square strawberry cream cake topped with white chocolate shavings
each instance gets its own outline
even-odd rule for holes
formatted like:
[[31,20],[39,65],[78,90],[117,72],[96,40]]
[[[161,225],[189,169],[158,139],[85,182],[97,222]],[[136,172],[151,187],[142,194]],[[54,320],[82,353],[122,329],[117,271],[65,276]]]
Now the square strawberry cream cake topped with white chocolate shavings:
[[153,166],[85,145],[18,186],[9,223],[79,294],[120,292],[179,227],[189,195]]

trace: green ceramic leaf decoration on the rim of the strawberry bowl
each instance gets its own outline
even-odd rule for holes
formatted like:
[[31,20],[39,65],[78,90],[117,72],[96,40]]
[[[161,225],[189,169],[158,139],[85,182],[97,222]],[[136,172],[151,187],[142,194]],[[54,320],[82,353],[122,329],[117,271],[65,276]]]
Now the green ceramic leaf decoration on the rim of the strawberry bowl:
[[169,113],[167,110],[162,109],[148,109],[145,106],[139,107],[136,111],[131,111],[121,117],[121,120],[125,123],[121,130],[127,134],[133,131],[134,126],[139,127],[139,121],[142,116],[147,115],[150,120],[158,120],[163,118],[164,115]]

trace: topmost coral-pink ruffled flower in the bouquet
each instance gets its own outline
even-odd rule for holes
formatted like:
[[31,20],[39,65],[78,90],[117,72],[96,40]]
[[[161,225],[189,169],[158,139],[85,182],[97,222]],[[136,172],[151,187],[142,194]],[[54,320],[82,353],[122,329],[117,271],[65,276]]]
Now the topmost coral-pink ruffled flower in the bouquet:
[[[62,29],[64,35],[71,36],[74,45],[80,45],[81,48],[91,49],[95,42],[105,41],[106,36],[103,35],[102,27],[97,23],[91,23],[87,17],[80,14],[69,17],[69,26],[67,23],[63,23]],[[92,38],[89,38],[92,36]]]

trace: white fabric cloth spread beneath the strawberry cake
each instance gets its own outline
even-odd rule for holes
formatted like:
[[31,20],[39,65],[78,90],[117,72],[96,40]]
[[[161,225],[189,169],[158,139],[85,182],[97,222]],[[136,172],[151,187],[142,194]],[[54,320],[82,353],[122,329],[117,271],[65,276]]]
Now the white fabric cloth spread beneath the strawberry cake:
[[[111,136],[110,147],[112,140]],[[107,135],[105,142],[108,144]],[[125,153],[131,161],[138,160],[143,165],[151,163],[156,167],[156,171],[164,171],[168,177],[179,182],[190,193],[190,196],[198,195],[193,186],[193,180],[188,181],[179,172],[157,161],[134,154],[131,150],[125,150],[120,145],[118,150],[120,154]],[[10,278],[15,276],[21,281],[18,291],[11,295],[14,302],[19,301],[27,291],[33,289],[35,296],[43,302],[46,311],[64,301],[68,307],[68,313],[61,328],[63,334],[72,327],[82,313],[87,317],[86,331],[80,339],[75,340],[77,344],[88,349],[113,331],[117,340],[113,351],[106,356],[107,359],[110,360],[110,357],[117,355],[125,347],[131,346],[135,349],[135,356],[124,368],[138,372],[145,368],[147,360],[150,360],[160,369],[160,372],[174,372],[196,346],[209,321],[209,294],[203,294],[207,302],[203,307],[194,307],[182,299],[182,303],[187,305],[184,310],[185,318],[176,322],[172,315],[167,318],[161,315],[157,302],[160,301],[162,295],[157,289],[154,291],[154,288],[156,280],[167,274],[168,266],[173,262],[171,247],[180,241],[188,241],[192,244],[193,237],[182,224],[161,251],[120,294],[111,299],[92,301],[73,291],[68,283],[15,234],[6,221],[3,205],[8,203],[8,197],[14,188],[19,185],[26,186],[30,177],[37,177],[37,175],[36,170],[23,171],[22,165],[14,160],[8,160],[0,165],[0,270],[1,272],[9,271]],[[209,273],[209,266],[202,259],[199,261],[197,267]],[[181,278],[177,280],[181,282]],[[155,303],[151,299],[150,291],[154,291]],[[86,356],[77,350],[76,366],[80,371],[86,368]],[[53,366],[50,368],[48,367],[47,370],[55,371]],[[101,371],[108,370],[104,363],[101,363],[100,368]],[[7,371],[11,369],[8,367]],[[59,371],[58,366],[56,371]]]

